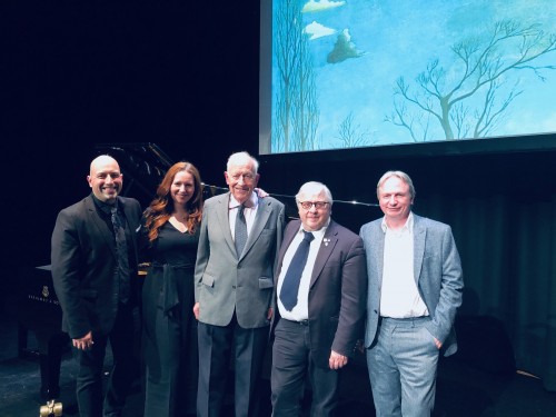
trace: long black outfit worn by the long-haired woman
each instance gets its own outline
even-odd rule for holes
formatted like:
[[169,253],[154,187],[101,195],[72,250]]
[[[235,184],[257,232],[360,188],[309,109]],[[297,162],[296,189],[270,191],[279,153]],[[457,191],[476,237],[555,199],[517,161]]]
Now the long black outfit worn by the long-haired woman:
[[198,354],[193,270],[199,242],[169,221],[149,249],[142,287],[145,417],[195,414]]

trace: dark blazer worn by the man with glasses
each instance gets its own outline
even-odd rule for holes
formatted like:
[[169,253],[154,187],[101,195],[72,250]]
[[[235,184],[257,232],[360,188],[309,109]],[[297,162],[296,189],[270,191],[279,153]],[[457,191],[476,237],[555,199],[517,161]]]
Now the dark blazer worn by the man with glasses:
[[[300,220],[292,220],[284,232],[276,277],[280,275],[286,250],[300,226]],[[324,239],[310,281],[309,332],[316,364],[328,368],[331,350],[351,357],[357,340],[363,339],[367,268],[359,236],[330,220]],[[272,330],[280,318],[276,297],[275,290]]]

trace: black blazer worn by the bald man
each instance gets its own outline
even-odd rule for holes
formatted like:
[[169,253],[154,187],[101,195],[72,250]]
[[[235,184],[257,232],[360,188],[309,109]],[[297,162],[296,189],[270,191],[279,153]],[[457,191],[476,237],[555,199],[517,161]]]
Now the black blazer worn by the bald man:
[[[133,279],[141,206],[126,197],[118,197],[118,203],[133,236]],[[59,212],[52,232],[51,264],[54,290],[62,307],[62,330],[72,339],[91,330],[110,332],[118,311],[116,242],[91,195]]]

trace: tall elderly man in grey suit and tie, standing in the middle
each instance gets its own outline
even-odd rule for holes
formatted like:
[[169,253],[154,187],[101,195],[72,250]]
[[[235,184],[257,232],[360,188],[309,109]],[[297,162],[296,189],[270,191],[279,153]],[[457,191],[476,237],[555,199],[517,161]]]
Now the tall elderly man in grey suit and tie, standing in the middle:
[[255,158],[231,155],[225,177],[230,191],[205,202],[195,268],[199,417],[220,415],[232,348],[236,417],[255,413],[285,226],[284,205],[254,192]]

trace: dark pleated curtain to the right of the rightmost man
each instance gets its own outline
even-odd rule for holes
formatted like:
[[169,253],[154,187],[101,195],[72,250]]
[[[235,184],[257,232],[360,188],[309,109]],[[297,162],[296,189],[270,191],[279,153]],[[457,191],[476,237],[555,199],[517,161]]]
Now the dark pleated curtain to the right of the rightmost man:
[[415,212],[453,227],[465,279],[459,314],[500,320],[516,368],[556,391],[556,196],[549,193],[433,195],[417,199]]

